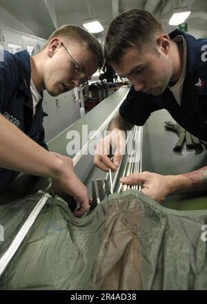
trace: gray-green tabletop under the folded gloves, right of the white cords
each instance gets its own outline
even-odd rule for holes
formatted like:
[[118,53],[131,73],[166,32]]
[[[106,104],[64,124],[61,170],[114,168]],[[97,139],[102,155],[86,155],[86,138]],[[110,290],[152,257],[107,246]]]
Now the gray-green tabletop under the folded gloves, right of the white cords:
[[[175,175],[206,166],[205,148],[201,153],[196,153],[194,149],[187,150],[184,144],[181,152],[173,151],[178,136],[164,129],[165,121],[175,122],[166,110],[160,110],[152,113],[144,125],[142,171]],[[207,194],[170,196],[162,205],[179,210],[207,209]]]

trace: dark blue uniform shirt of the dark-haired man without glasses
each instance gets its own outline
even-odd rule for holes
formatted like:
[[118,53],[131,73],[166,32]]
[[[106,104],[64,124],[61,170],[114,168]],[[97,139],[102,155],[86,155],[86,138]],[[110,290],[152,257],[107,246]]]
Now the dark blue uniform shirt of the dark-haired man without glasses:
[[186,77],[181,95],[181,106],[169,88],[159,96],[136,92],[134,86],[119,108],[128,122],[142,126],[150,114],[165,108],[178,124],[200,140],[207,140],[207,40],[174,30],[173,39],[182,35],[187,44]]

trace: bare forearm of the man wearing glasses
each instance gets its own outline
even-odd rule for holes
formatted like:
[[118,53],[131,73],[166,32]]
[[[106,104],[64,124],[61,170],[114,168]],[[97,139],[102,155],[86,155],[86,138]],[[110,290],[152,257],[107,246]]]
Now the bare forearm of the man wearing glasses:
[[0,115],[0,167],[55,178],[61,160]]

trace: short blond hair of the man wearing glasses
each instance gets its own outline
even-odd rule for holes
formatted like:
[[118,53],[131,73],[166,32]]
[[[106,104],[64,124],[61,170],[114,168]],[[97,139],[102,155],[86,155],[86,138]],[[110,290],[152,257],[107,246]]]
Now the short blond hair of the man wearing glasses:
[[94,35],[90,34],[90,32],[87,30],[70,24],[61,26],[60,28],[57,28],[55,32],[52,32],[42,50],[45,49],[46,46],[48,46],[49,42],[55,37],[63,39],[64,43],[67,43],[69,40],[75,40],[79,44],[83,44],[97,56],[99,68],[102,68],[104,62],[103,48],[101,44],[99,44],[97,38]]

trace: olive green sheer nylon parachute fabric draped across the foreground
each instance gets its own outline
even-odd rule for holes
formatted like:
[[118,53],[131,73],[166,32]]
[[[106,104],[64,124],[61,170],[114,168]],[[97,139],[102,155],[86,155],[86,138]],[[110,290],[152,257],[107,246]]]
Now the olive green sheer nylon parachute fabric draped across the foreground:
[[[6,251],[37,193],[0,206]],[[49,198],[0,278],[1,289],[207,289],[207,211],[166,209],[114,193],[83,218]]]

